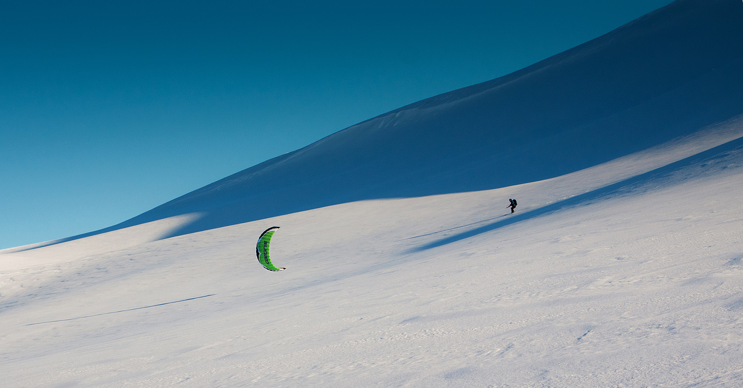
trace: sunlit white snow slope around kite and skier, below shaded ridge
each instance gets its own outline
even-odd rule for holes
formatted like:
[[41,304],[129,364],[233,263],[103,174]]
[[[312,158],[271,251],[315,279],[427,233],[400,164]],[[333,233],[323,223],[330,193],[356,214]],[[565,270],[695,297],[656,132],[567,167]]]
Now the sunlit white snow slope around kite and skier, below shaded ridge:
[[[1,271],[4,387],[740,387],[742,135],[730,122],[535,183],[17,253],[66,260]],[[273,225],[275,273],[253,256]]]

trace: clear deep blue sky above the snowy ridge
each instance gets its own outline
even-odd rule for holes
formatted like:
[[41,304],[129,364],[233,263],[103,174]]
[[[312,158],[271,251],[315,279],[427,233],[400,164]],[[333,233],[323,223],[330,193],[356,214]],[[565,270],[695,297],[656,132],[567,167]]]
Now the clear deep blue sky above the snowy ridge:
[[0,249],[114,225],[670,2],[0,1]]

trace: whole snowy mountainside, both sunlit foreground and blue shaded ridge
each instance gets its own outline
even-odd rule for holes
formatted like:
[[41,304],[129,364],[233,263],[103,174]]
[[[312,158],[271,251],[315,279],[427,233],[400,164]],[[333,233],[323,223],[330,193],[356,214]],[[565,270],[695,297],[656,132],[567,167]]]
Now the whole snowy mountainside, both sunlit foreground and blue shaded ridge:
[[[3,387],[742,386],[743,83],[733,65],[743,51],[726,50],[743,34],[695,35],[739,28],[730,22],[742,7],[677,1],[129,227],[0,251]],[[676,67],[580,78],[601,65],[618,72],[632,62],[602,61],[654,45],[679,50]],[[563,93],[569,85],[588,96]],[[521,111],[533,126],[493,154],[508,131],[487,137],[490,114],[478,112],[517,110],[510,101],[530,95],[542,116]],[[521,114],[500,117],[516,125]],[[420,145],[397,154],[394,135]],[[444,190],[432,171],[462,180]],[[262,195],[256,183],[288,205],[237,223],[260,217],[244,211]],[[322,193],[339,197],[320,203]],[[230,209],[239,217],[215,215]],[[288,269],[272,273],[254,244],[274,225],[272,258]],[[192,228],[202,230],[184,234]]]

